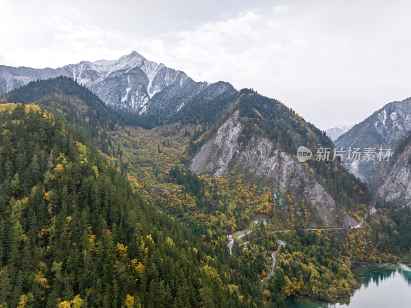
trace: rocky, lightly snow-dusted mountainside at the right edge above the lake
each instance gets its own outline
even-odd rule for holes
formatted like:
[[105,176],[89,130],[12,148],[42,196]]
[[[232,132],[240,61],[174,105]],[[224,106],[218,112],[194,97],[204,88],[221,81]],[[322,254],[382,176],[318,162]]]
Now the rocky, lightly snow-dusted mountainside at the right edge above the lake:
[[345,161],[350,171],[366,180],[376,196],[386,201],[411,202],[411,98],[386,104],[364,121],[341,135],[337,148],[365,149],[390,147],[389,161]]

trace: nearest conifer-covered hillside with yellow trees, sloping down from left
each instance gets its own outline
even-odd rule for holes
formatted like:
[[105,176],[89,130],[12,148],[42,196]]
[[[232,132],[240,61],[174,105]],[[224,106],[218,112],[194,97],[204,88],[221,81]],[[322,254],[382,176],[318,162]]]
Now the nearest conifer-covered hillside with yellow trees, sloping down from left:
[[57,97],[37,99],[58,115],[0,105],[2,306],[263,305],[250,279],[260,262],[250,254],[251,271],[241,270],[218,230],[188,228],[147,203],[87,128],[67,121],[62,106],[73,102]]

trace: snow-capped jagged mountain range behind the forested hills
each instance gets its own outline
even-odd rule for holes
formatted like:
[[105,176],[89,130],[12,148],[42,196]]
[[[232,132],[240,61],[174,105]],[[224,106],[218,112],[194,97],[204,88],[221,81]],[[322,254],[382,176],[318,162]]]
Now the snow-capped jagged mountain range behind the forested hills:
[[164,121],[196,102],[229,96],[227,82],[195,82],[183,71],[148,61],[138,52],[117,60],[81,61],[59,68],[0,65],[0,95],[38,79],[68,76],[87,86],[103,102],[129,117]]

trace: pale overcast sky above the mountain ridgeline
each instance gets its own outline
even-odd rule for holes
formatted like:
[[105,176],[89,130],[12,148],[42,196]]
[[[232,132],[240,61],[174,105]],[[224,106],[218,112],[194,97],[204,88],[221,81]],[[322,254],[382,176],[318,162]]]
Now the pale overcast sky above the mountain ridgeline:
[[411,96],[411,1],[0,0],[0,64],[136,50],[281,100],[321,129]]

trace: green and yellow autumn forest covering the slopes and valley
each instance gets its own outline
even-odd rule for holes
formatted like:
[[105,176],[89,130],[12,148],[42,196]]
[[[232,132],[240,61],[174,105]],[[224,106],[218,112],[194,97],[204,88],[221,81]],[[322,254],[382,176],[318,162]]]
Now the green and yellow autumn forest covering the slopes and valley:
[[[286,153],[303,141],[332,146],[253,90],[155,127],[68,77],[31,82],[0,103],[2,308],[284,307],[291,295],[350,296],[354,261],[410,262],[410,208],[372,200],[337,161],[306,168],[337,203],[335,221],[350,214],[361,228],[306,231],[316,212],[277,183],[237,166],[225,176],[189,170],[236,109],[242,144],[254,135]],[[256,214],[275,223],[255,224]],[[244,230],[230,253],[228,237]]]

